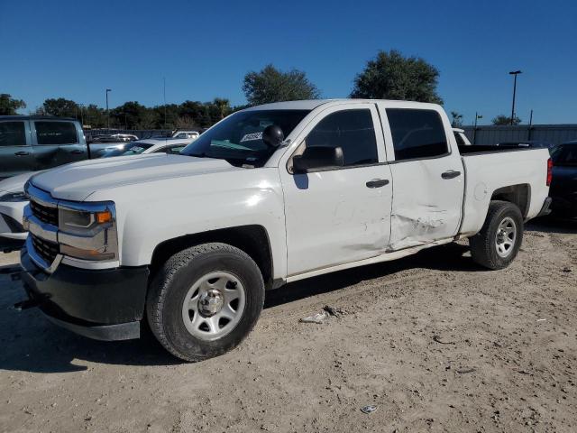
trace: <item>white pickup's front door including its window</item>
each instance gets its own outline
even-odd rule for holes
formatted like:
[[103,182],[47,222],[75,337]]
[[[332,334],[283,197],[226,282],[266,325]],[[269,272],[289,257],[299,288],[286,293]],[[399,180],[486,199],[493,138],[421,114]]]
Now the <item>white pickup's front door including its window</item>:
[[[288,170],[280,171],[289,275],[384,253],[389,244],[391,177],[389,165],[383,163],[383,134],[374,104],[328,108],[303,135]],[[316,155],[326,148],[342,159],[318,161]],[[294,160],[299,158],[307,161],[306,172],[296,169]]]

